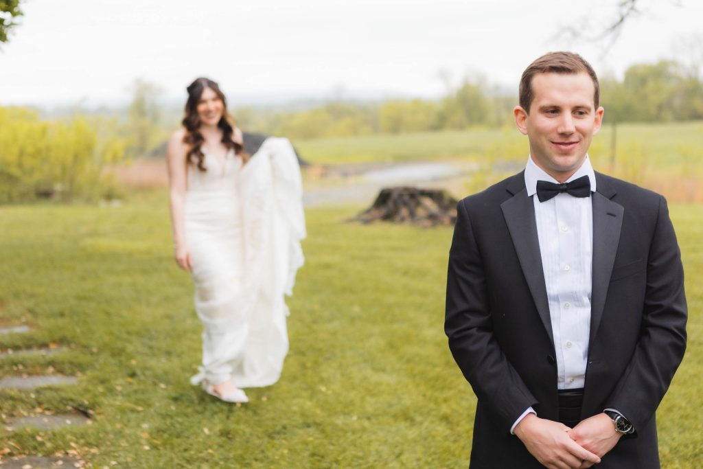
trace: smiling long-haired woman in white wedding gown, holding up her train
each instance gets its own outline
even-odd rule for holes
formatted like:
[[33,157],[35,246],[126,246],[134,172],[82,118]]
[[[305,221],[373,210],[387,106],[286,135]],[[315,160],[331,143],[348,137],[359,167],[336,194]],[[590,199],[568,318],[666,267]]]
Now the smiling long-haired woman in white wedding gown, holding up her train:
[[306,234],[290,141],[269,137],[249,148],[245,138],[216,82],[188,86],[183,127],[167,150],[175,257],[193,277],[203,326],[202,366],[191,383],[228,402],[247,402],[242,388],[280,377],[283,295],[303,264]]

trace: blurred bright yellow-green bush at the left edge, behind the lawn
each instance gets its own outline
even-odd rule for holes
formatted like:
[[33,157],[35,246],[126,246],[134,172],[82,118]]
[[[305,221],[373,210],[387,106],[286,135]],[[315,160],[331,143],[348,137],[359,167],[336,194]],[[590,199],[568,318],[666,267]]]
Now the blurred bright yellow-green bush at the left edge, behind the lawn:
[[123,158],[124,143],[103,136],[111,125],[80,116],[43,120],[27,108],[0,108],[0,203],[114,194],[103,167]]

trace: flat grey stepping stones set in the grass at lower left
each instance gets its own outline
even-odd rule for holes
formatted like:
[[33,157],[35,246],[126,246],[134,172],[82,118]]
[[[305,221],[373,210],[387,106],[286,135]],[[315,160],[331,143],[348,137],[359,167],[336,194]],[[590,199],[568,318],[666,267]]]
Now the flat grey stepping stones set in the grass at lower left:
[[[30,332],[30,327],[25,324],[19,326],[7,326],[0,328],[0,335],[22,334]],[[51,355],[63,352],[61,347],[50,347],[41,349],[8,350],[0,354],[0,358],[7,356],[32,356]],[[35,387],[75,385],[78,378],[75,376],[60,375],[39,375],[39,376],[9,376],[0,380],[0,389],[32,390]],[[39,430],[56,430],[65,426],[86,425],[91,420],[74,413],[59,415],[39,415],[19,418],[11,418],[6,425],[8,432],[20,430],[22,428],[38,428]],[[84,468],[85,461],[63,456],[22,456],[19,458],[0,459],[0,469],[44,469],[44,468]]]

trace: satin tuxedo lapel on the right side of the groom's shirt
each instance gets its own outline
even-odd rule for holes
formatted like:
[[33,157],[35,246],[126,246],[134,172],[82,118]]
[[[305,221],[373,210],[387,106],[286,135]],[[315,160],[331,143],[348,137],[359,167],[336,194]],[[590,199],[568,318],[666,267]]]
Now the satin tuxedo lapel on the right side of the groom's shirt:
[[597,179],[598,191],[591,195],[593,203],[593,280],[591,285],[591,333],[593,343],[605,307],[610,276],[620,240],[625,209],[610,198],[615,195],[604,179]]

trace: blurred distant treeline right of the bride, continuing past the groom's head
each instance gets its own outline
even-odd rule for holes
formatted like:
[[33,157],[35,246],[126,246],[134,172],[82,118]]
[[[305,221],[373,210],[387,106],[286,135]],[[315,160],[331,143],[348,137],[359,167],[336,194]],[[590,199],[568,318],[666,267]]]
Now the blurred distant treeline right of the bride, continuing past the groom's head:
[[[602,77],[607,122],[675,122],[703,119],[699,70],[674,60],[632,65],[621,80]],[[401,134],[512,123],[517,90],[505,94],[485,79],[465,79],[439,100],[327,103],[309,110],[233,110],[240,127],[290,138]]]

